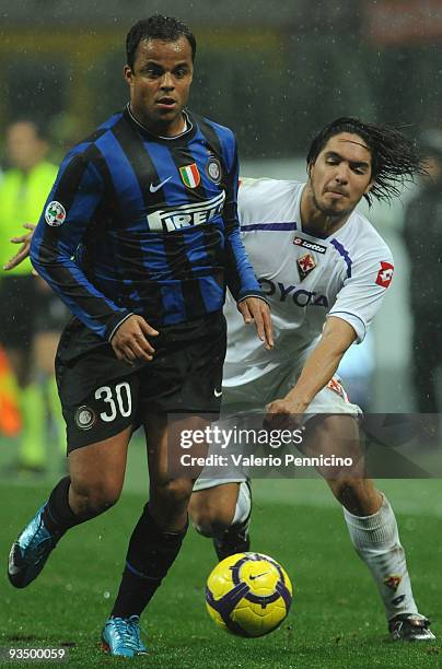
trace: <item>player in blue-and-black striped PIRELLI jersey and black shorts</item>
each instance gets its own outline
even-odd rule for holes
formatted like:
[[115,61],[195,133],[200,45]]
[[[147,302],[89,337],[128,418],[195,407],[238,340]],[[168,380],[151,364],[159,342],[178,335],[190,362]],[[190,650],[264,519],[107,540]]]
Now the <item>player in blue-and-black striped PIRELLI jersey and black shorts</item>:
[[171,476],[167,446],[219,411],[226,286],[272,340],[240,237],[234,136],[186,107],[195,37],[155,15],[126,46],[130,102],[67,155],[32,242],[34,267],[73,315],[56,361],[70,474],[14,542],[9,578],[27,586],[70,528],[115,504],[140,420],[150,498],[103,631],[112,655],[133,657],[146,653],[139,617],[187,529],[194,480]]

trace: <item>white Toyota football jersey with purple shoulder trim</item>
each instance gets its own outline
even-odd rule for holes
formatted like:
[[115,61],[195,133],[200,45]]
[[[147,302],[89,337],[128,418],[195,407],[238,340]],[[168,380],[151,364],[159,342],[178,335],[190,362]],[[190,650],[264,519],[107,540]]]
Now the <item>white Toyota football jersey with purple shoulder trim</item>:
[[241,183],[241,234],[270,303],[275,348],[266,351],[255,326],[244,326],[229,294],[224,309],[229,328],[226,387],[253,380],[281,363],[303,363],[327,316],[349,322],[361,342],[392,281],[392,253],[357,211],[329,237],[302,230],[304,186],[275,179]]

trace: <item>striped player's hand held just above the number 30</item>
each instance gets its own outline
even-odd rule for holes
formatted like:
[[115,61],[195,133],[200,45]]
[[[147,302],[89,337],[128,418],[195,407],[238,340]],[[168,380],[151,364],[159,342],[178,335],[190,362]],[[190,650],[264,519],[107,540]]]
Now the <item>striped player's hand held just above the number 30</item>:
[[142,316],[133,314],[126,318],[111,339],[118,360],[124,360],[130,365],[138,359],[151,362],[155,349],[149,342],[148,337],[158,337],[160,332],[152,328]]

